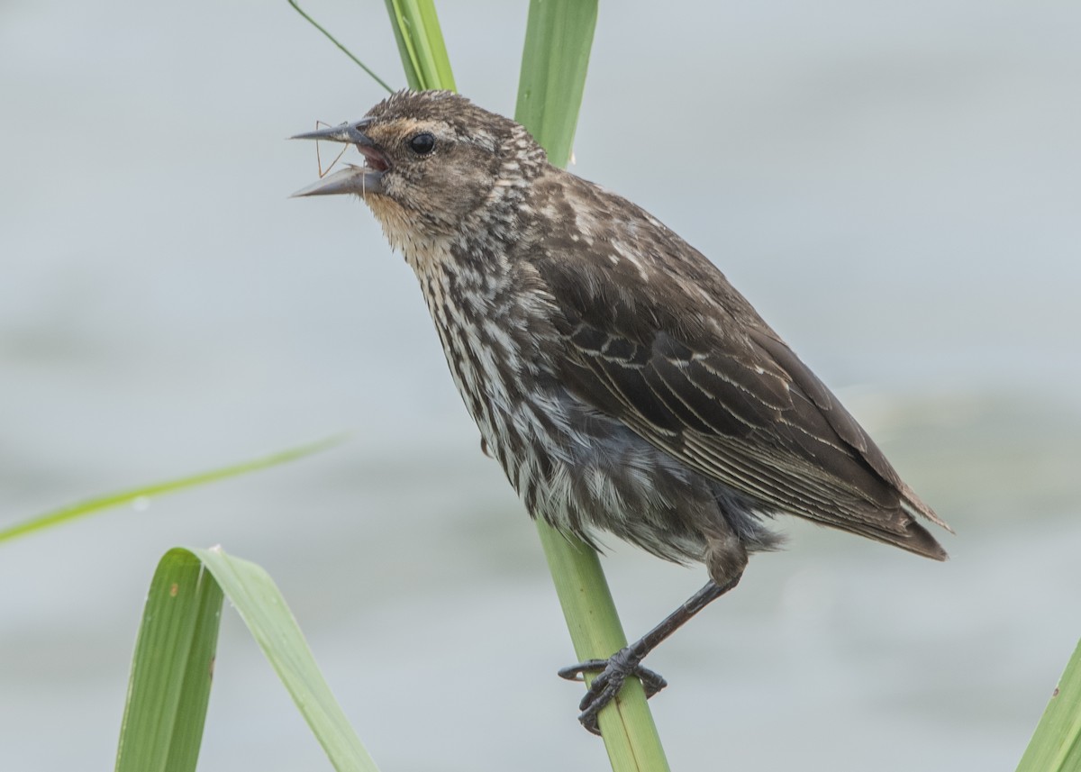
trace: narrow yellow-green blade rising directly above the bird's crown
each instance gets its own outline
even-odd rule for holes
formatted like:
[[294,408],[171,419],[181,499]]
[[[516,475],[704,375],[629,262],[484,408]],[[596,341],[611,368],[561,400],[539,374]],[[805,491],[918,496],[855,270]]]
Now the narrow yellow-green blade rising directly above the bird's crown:
[[386,0],[409,88],[456,91],[432,0]]

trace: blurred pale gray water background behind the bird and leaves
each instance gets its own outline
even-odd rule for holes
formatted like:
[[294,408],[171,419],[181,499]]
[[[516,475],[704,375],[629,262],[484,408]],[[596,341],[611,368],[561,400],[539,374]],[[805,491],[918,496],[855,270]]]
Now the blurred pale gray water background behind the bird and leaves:
[[[308,10],[403,84],[382,2]],[[443,3],[512,112],[526,3]],[[958,531],[787,523],[650,660],[675,769],[1012,770],[1081,635],[1081,5],[604,3],[580,175],[710,256]],[[155,564],[279,582],[384,770],[604,769],[535,533],[415,279],[284,137],[384,93],[284,2],[0,6],[0,518],[345,447],[0,546],[0,767],[112,763]],[[611,543],[638,635],[704,580]],[[226,609],[202,770],[329,769]]]

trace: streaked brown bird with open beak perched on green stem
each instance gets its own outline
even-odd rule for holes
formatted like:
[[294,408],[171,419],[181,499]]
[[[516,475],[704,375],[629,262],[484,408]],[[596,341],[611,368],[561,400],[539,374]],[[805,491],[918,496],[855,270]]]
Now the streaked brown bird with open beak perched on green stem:
[[780,547],[795,515],[934,560],[951,531],[721,270],[631,201],[548,162],[513,120],[450,91],[393,93],[292,138],[363,165],[294,196],[359,196],[419,280],[463,401],[533,518],[612,534],[709,581],[605,660],[579,720]]

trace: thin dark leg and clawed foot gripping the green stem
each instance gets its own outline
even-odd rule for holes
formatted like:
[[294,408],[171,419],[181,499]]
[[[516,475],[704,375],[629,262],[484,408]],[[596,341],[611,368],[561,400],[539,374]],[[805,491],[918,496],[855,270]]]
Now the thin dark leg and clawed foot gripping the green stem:
[[615,652],[608,660],[588,660],[560,669],[560,677],[571,681],[578,680],[578,677],[583,673],[599,674],[589,684],[586,695],[578,704],[578,709],[582,710],[578,720],[582,721],[582,726],[593,734],[600,734],[600,729],[597,726],[597,714],[612,702],[623,687],[623,682],[627,679],[627,676],[638,677],[645,689],[646,698],[652,697],[668,686],[667,681],[659,675],[642,667],[642,660],[660,641],[678,630],[688,620],[705,609],[709,603],[735,587],[738,582],[739,576],[723,585],[709,582],[705,587],[688,598],[686,602],[680,608],[666,616],[659,625],[630,645]]

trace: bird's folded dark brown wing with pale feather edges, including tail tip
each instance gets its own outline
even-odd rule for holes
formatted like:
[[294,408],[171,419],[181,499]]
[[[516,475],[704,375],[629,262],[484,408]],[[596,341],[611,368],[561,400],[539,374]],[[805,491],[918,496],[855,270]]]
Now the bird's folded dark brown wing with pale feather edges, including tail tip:
[[562,382],[765,510],[945,558],[911,515],[948,527],[837,398],[720,271],[664,237],[671,265],[604,254],[583,265],[551,250],[534,262],[559,311]]

